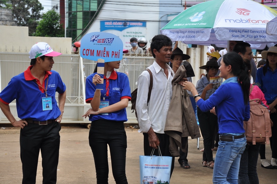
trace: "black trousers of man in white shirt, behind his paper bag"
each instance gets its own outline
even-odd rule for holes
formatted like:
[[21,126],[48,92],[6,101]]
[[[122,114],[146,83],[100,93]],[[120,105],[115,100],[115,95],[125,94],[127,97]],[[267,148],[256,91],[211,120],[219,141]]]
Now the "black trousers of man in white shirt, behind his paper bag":
[[[159,146],[160,146],[162,156],[171,156],[172,157],[172,155],[169,151],[169,136],[165,133],[156,133],[156,135],[157,135],[158,139],[160,140]],[[144,137],[143,138],[144,155],[150,156],[153,148],[149,146],[148,134],[143,133],[143,137]],[[154,150],[153,155],[159,156],[158,149]],[[174,160],[175,160],[175,157],[172,157],[170,177],[171,177],[173,169],[174,169]]]

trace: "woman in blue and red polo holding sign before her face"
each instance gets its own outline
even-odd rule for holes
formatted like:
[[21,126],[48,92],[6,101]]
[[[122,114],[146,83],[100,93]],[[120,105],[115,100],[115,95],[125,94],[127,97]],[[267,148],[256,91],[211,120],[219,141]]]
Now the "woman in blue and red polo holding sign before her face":
[[129,79],[126,74],[116,72],[120,61],[105,63],[104,89],[96,89],[103,79],[97,73],[87,77],[86,102],[91,109],[83,116],[90,115],[89,144],[93,153],[97,183],[108,183],[109,145],[113,177],[117,184],[126,184],[125,174],[127,137],[124,122],[127,121],[126,107],[131,100]]

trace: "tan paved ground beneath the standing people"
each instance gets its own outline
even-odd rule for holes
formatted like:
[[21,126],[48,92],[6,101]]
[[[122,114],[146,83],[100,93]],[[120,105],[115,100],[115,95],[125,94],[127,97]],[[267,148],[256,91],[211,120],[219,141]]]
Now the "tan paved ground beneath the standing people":
[[[21,183],[21,161],[18,128],[0,124],[0,184]],[[139,155],[143,155],[143,135],[137,129],[125,128],[127,133],[126,175],[129,184],[140,183]],[[58,165],[58,184],[96,183],[92,152],[88,144],[88,132],[84,125],[62,124],[60,131],[60,161]],[[200,140],[200,149],[203,141]],[[215,152],[214,152],[215,156]],[[266,157],[271,158],[269,145],[266,146]],[[171,184],[212,183],[213,170],[202,167],[202,152],[197,149],[197,140],[189,140],[188,160],[190,169],[183,169],[175,158],[175,168],[170,180]],[[111,168],[111,167],[110,167]],[[269,170],[260,166],[258,160],[260,184],[277,183],[277,169]],[[41,159],[37,169],[37,183],[42,183]],[[110,170],[109,183],[115,184]]]

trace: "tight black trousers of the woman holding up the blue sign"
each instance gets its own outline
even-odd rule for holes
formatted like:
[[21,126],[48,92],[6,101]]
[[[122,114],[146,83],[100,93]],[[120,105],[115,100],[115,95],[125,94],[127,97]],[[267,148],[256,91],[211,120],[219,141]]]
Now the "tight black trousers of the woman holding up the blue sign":
[[108,145],[115,182],[128,184],[125,173],[127,137],[123,121],[92,121],[89,144],[94,157],[97,184],[108,184]]

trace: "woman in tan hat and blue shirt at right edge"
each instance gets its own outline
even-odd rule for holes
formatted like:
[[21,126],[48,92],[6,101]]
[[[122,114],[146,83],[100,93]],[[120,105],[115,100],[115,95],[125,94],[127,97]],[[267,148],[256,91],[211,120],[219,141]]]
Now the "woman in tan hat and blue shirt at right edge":
[[261,84],[260,89],[264,93],[264,98],[270,109],[270,119],[273,122],[271,127],[270,147],[272,151],[271,166],[265,165],[265,145],[261,145],[260,156],[262,167],[277,169],[277,47],[270,47],[268,51],[262,51],[262,57],[266,59],[266,64],[257,70],[256,82]]

